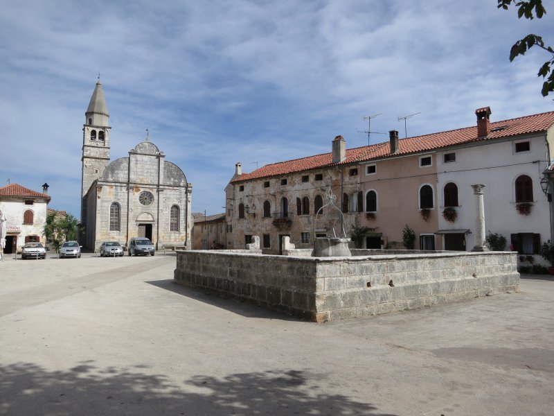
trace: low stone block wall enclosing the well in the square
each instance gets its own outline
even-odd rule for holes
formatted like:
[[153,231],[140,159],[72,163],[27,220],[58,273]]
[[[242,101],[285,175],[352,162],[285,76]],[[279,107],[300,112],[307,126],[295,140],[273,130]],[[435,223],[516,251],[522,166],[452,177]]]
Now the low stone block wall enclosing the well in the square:
[[519,291],[517,253],[285,257],[178,251],[175,282],[324,322]]

